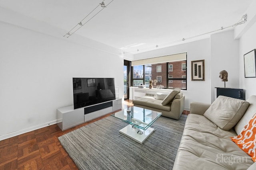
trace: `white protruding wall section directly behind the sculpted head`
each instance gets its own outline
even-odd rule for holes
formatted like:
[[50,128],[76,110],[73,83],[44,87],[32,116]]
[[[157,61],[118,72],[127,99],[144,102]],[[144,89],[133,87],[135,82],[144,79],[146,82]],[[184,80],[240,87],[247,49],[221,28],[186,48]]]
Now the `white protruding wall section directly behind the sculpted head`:
[[222,70],[228,72],[226,88],[239,88],[239,40],[234,39],[234,31],[224,31],[211,35],[211,101],[214,88],[224,88],[219,78]]

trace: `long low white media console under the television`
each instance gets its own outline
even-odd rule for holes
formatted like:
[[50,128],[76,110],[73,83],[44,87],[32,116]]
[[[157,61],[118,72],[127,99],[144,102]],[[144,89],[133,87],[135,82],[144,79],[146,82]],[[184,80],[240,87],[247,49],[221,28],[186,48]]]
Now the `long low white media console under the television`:
[[61,107],[57,109],[57,125],[64,131],[119,109],[122,109],[121,98],[78,109],[74,106]]

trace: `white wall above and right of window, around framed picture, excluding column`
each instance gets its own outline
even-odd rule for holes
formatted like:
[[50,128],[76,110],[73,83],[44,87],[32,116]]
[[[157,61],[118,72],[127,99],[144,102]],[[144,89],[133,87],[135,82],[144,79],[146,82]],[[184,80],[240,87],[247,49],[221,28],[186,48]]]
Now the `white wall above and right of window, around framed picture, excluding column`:
[[[182,90],[185,96],[185,109],[190,109],[191,102],[210,103],[210,39],[198,40],[182,45],[175,45],[154,51],[134,55],[134,60],[171,55],[187,52],[187,90]],[[205,81],[191,81],[191,61],[205,60]]]

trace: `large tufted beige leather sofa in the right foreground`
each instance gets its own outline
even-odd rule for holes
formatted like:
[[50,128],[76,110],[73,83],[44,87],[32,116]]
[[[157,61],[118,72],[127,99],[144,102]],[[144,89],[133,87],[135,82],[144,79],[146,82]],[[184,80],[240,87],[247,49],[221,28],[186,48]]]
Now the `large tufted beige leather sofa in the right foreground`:
[[256,96],[244,102],[227,98],[190,104],[173,170],[256,170],[256,162],[230,139],[256,113]]

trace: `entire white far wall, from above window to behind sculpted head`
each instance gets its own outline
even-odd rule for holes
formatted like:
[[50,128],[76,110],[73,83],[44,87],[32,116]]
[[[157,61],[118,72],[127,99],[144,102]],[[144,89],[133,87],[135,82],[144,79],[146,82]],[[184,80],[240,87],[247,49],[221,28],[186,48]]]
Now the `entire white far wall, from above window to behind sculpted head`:
[[[234,39],[234,31],[223,31],[208,39],[166,47],[134,55],[134,60],[187,52],[187,90],[185,109],[191,102],[212,103],[214,88],[224,87],[219,78],[221,70],[228,71],[226,87],[239,88],[239,41]],[[205,60],[205,81],[191,81],[191,61]]]

